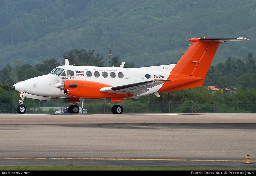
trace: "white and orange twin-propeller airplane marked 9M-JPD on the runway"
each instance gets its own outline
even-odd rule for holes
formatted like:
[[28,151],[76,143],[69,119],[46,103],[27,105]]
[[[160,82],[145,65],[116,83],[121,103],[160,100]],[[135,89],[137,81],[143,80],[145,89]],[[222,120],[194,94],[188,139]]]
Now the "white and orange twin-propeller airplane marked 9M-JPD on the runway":
[[125,98],[188,89],[202,86],[211,62],[220,43],[242,41],[246,38],[192,38],[190,47],[177,64],[158,65],[143,68],[92,67],[65,65],[56,67],[47,75],[38,76],[13,85],[20,92],[18,113],[25,113],[24,100],[32,98],[46,100],[63,98],[72,103],[68,111],[78,113],[79,98],[103,99],[116,103],[113,114],[122,114],[120,103]]

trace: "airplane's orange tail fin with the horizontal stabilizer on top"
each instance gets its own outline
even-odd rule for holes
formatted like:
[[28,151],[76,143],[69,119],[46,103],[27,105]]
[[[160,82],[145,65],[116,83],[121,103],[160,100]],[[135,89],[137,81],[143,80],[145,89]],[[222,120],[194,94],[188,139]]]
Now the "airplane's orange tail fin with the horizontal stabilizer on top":
[[248,40],[246,38],[193,38],[193,43],[175,65],[171,73],[205,78],[220,43]]

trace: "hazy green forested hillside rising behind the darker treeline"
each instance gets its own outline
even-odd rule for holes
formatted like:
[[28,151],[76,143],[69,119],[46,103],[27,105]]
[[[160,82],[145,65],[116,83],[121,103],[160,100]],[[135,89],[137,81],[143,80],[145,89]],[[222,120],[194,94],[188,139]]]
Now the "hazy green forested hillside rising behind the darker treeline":
[[168,64],[194,37],[246,37],[220,45],[213,63],[243,59],[256,54],[255,7],[254,0],[1,0],[0,68],[61,61],[72,49],[108,59],[109,47],[137,67]]

